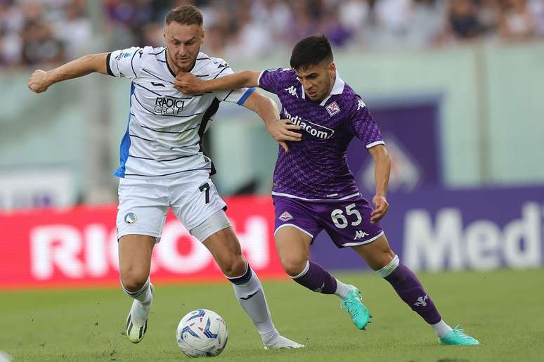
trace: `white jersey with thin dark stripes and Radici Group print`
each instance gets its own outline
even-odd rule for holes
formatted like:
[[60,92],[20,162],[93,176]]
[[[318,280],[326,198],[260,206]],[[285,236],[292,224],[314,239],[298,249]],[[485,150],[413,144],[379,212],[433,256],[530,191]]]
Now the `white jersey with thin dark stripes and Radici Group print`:
[[[108,73],[132,81],[127,132],[121,141],[121,164],[114,174],[126,178],[181,175],[196,170],[212,172],[212,161],[202,153],[202,135],[219,102],[242,105],[254,89],[216,91],[186,96],[174,88],[174,72],[166,47],[113,51]],[[221,58],[199,53],[193,75],[214,79],[232,74]]]

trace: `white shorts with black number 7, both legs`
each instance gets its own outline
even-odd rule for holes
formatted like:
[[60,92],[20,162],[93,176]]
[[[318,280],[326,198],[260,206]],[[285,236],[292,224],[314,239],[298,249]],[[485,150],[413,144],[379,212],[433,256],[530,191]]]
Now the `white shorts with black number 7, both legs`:
[[162,235],[169,207],[188,231],[202,224],[226,203],[208,172],[186,177],[120,179],[117,239],[124,235]]

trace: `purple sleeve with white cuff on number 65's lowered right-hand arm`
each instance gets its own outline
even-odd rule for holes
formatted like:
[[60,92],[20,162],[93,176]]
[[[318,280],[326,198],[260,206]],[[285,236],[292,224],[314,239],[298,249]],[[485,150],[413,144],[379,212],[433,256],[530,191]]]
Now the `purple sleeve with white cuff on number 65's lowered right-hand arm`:
[[363,100],[357,96],[354,103],[349,119],[349,127],[353,134],[361,140],[366,148],[384,145],[382,133]]

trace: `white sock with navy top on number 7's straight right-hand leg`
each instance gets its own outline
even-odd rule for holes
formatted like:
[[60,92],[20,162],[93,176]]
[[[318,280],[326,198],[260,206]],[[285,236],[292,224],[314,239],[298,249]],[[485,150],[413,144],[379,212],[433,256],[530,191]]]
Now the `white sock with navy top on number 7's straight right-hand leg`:
[[272,323],[272,317],[261,281],[257,274],[247,266],[244,275],[237,278],[228,278],[233,283],[234,294],[240,302],[242,309],[257,327],[263,342],[269,342],[279,335]]

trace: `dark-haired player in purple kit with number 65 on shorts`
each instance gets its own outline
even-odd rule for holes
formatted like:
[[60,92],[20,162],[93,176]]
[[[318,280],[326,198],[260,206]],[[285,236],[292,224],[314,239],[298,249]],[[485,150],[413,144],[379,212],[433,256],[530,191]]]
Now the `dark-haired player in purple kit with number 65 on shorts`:
[[[309,260],[313,238],[324,229],[337,247],[351,247],[387,280],[432,326],[439,342],[479,344],[442,320],[420,280],[389,247],[380,224],[389,207],[387,148],[361,97],[340,79],[328,39],[313,35],[299,41],[290,65],[291,69],[244,71],[204,82],[190,73],[176,79],[176,87],[189,94],[259,86],[280,99],[281,122],[287,120],[302,132],[302,141],[280,143],[273,175],[274,235],[287,275],[314,292],[337,295],[357,328],[370,323],[359,290]],[[375,163],[375,209],[362,197],[347,166],[346,150],[354,136]]]

